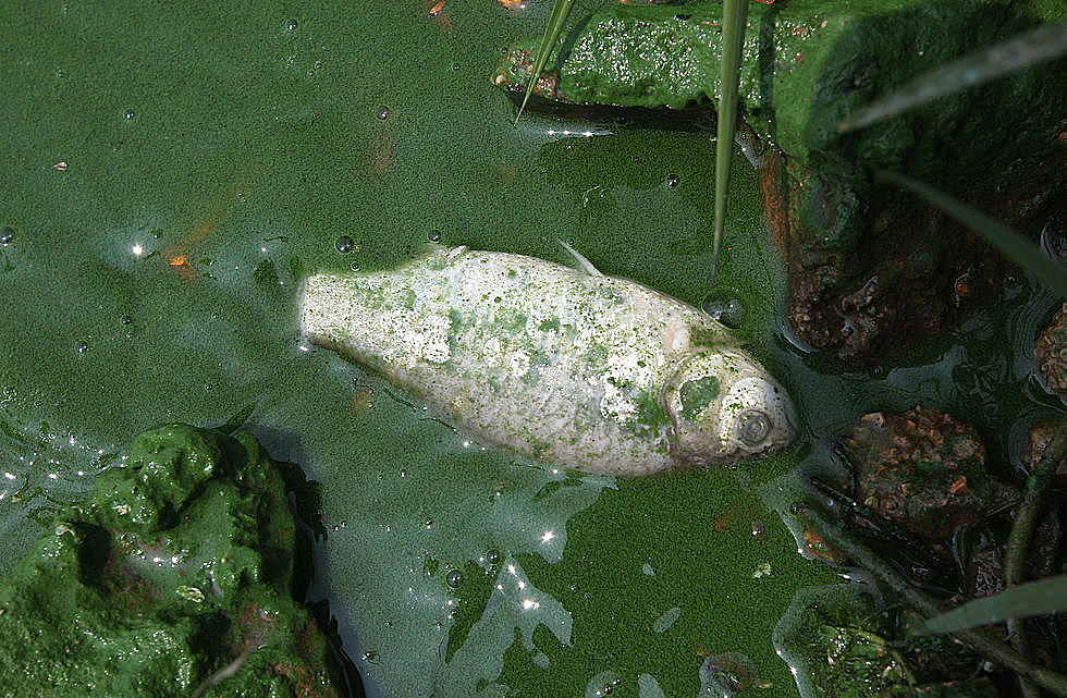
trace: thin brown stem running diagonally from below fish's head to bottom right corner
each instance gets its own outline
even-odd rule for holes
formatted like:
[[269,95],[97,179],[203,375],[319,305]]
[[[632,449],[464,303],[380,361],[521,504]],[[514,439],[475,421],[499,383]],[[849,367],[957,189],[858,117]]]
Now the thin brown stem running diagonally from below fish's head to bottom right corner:
[[[804,509],[798,516],[827,542],[843,550],[860,566],[869,570],[874,576],[887,584],[918,611],[927,616],[939,615],[943,612],[940,603],[912,587],[896,570],[869,548],[849,537],[839,526],[831,525],[810,507]],[[1042,666],[1034,666],[1026,657],[1004,642],[993,639],[986,632],[979,629],[956,630],[953,635],[994,662],[1010,669],[1020,676],[1032,679],[1033,683],[1052,695],[1058,698],[1067,698],[1067,676]]]

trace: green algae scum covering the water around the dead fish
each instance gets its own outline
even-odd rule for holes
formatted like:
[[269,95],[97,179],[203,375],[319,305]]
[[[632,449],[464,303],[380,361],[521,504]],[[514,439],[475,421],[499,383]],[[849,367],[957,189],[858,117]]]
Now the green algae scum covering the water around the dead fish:
[[[132,434],[254,404],[247,428],[321,483],[312,599],[368,694],[695,695],[733,652],[761,696],[796,695],[771,632],[831,575],[757,492],[795,457],[648,480],[542,468],[298,336],[302,275],[438,236],[561,261],[563,237],[700,301],[713,144],[513,128],[489,77],[544,21],[529,4],[4,4],[0,572]],[[766,358],[777,272],[755,179],[735,189],[722,282]]]

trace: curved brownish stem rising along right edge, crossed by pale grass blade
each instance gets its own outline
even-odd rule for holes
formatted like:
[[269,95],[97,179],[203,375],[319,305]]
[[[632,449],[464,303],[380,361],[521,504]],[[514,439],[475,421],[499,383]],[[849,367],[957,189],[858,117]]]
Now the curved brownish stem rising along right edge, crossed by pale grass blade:
[[[1045,445],[1045,451],[1038,460],[1030,477],[1027,478],[1022,502],[1015,513],[1015,523],[1008,534],[1007,549],[1004,555],[1004,584],[1013,587],[1022,581],[1022,567],[1030,549],[1030,539],[1038,525],[1038,514],[1041,511],[1041,500],[1059,463],[1067,457],[1067,424],[1056,429],[1052,439]],[[1029,657],[1030,647],[1027,639],[1026,620],[1007,619],[1008,638],[1011,647],[1023,657]],[[1025,676],[1019,676],[1019,688],[1025,698],[1038,698],[1041,691],[1037,685]]]

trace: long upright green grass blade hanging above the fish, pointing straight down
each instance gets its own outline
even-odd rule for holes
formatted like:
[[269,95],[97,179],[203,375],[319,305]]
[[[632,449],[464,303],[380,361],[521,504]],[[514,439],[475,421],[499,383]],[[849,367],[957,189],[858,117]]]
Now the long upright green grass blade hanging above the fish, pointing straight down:
[[720,74],[719,124],[715,131],[715,233],[711,259],[711,289],[719,275],[719,248],[726,224],[726,192],[729,185],[729,160],[734,155],[734,131],[737,127],[737,83],[740,79],[741,47],[748,0],[723,3],[723,62]]

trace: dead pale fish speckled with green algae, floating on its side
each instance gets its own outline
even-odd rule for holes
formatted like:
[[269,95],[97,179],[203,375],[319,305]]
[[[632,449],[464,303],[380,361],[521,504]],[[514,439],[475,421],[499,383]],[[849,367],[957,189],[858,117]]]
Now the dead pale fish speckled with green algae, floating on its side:
[[792,442],[788,396],[726,328],[585,264],[438,248],[310,277],[301,322],[477,441],[547,463],[646,475]]

